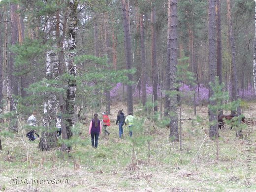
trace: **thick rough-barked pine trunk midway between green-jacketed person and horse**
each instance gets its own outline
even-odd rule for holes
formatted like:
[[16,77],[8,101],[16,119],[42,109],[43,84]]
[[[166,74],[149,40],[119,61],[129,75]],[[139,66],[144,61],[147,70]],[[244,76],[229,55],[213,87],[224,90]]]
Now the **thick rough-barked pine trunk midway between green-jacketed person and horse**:
[[169,63],[169,69],[170,69],[170,89],[169,91],[172,92],[170,96],[170,135],[169,137],[173,137],[173,141],[179,140],[179,128],[178,128],[178,97],[175,94],[177,91],[177,63],[178,63],[178,51],[177,51],[177,2],[178,0],[169,0],[168,1],[168,28],[170,27],[170,35],[169,39],[167,39],[170,44],[170,63]]

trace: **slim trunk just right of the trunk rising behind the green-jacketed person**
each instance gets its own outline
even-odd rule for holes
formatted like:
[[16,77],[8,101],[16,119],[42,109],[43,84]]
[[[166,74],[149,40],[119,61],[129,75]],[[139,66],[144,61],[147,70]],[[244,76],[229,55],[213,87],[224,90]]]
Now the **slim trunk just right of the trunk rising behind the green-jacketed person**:
[[141,50],[141,67],[142,67],[142,75],[141,75],[142,105],[145,106],[147,102],[147,92],[146,92],[146,59],[145,59],[143,13],[140,14],[140,50]]

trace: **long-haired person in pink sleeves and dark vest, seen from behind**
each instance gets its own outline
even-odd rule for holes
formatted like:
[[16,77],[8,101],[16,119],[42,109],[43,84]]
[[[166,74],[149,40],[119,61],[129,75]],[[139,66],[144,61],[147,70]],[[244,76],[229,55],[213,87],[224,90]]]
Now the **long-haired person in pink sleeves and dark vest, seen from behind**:
[[89,134],[91,134],[92,146],[98,147],[98,136],[101,133],[101,124],[98,120],[98,114],[94,114],[94,119],[92,119],[89,127]]

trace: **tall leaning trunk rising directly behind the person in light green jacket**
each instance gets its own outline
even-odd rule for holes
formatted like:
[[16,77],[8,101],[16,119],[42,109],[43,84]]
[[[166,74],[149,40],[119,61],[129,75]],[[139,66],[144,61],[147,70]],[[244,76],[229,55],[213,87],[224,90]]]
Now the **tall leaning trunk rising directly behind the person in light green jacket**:
[[[130,39],[130,28],[129,28],[129,10],[127,9],[128,2],[122,0],[122,11],[123,11],[123,27],[125,32],[125,53],[126,53],[126,68],[129,70],[132,68],[131,60],[131,39]],[[128,73],[129,81],[132,81],[132,74]],[[133,112],[133,101],[132,101],[132,85],[127,85],[127,111]]]

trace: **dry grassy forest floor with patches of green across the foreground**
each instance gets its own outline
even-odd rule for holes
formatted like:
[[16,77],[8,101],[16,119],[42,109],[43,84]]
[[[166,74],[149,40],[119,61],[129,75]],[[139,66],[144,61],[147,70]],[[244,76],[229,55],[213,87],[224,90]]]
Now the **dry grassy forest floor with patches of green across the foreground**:
[[[156,128],[148,142],[133,145],[124,126],[119,139],[116,113],[126,109],[111,106],[109,136],[100,135],[97,149],[91,147],[88,125],[82,126],[77,144],[69,153],[59,148],[40,151],[39,140],[30,142],[19,131],[13,138],[2,137],[0,190],[5,192],[253,192],[256,191],[256,126],[243,130],[220,130],[220,154],[216,141],[208,136],[208,108],[197,106],[201,123],[182,121],[182,151],[179,142],[170,142],[167,128]],[[134,111],[139,111],[135,106]],[[242,110],[256,117],[256,102]],[[101,114],[102,112],[98,112]],[[125,111],[127,114],[127,111]],[[181,118],[196,119],[191,107],[183,106]],[[250,132],[251,131],[251,132]],[[138,133],[134,131],[134,137]],[[251,142],[248,142],[251,141]],[[149,150],[150,149],[150,150]],[[134,150],[134,153],[132,153]],[[132,155],[133,154],[133,155]],[[150,156],[149,156],[150,154]],[[132,158],[133,157],[133,158]],[[249,178],[246,182],[246,177]],[[251,182],[251,183],[250,183]],[[250,186],[251,185],[251,186]]]

